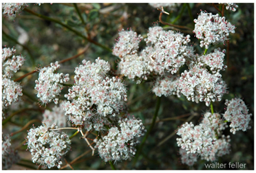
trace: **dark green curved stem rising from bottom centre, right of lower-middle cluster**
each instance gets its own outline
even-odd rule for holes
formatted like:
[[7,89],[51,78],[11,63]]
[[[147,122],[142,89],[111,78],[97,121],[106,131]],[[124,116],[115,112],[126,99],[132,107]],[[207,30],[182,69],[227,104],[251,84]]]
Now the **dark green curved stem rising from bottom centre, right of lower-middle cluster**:
[[136,152],[136,156],[134,159],[134,163],[133,166],[136,164],[136,162],[138,161],[138,157],[140,156],[140,153],[142,152],[142,148],[147,140],[147,137],[149,137],[149,133],[151,132],[151,130],[153,129],[153,126],[156,123],[156,117],[158,117],[158,111],[160,108],[160,102],[161,102],[161,97],[157,97],[157,101],[156,101],[156,111],[155,114],[153,115],[153,119],[152,119],[152,123],[151,126],[149,127],[149,130],[147,130],[147,134],[145,135],[145,137],[142,139],[142,142],[140,144],[140,147],[138,148],[138,151]]

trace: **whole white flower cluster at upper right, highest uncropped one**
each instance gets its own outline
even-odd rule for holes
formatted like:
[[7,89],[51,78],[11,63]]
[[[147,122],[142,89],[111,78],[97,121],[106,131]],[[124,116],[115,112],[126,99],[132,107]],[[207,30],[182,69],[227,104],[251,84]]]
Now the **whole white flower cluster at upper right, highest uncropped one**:
[[229,32],[235,33],[235,25],[225,21],[224,16],[213,15],[201,11],[198,19],[194,19],[196,38],[200,39],[200,47],[208,49],[211,43],[225,43],[228,40]]

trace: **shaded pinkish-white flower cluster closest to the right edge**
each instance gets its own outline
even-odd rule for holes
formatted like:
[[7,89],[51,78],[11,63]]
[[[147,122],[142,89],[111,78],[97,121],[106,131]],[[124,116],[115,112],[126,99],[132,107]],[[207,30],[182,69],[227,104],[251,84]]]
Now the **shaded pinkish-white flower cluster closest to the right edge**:
[[233,134],[237,130],[246,131],[251,128],[249,122],[252,114],[248,113],[249,110],[242,99],[234,98],[232,100],[226,100],[225,104],[227,108],[223,117],[228,122],[231,122],[229,126]]

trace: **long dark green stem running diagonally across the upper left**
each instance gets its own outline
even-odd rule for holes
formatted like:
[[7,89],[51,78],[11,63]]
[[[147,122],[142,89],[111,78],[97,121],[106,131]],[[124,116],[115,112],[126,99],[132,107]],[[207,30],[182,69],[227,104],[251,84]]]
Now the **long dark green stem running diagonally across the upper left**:
[[28,8],[24,8],[24,11],[29,12],[30,14],[33,14],[33,15],[38,16],[38,17],[40,17],[40,18],[43,18],[43,19],[45,19],[45,20],[47,20],[47,21],[52,21],[52,22],[54,22],[54,23],[58,23],[59,25],[62,25],[63,27],[66,27],[67,30],[70,30],[70,31],[74,32],[74,34],[76,34],[76,35],[78,35],[78,36],[81,36],[82,38],[84,38],[85,40],[89,41],[90,43],[93,43],[94,45],[97,45],[98,47],[101,47],[101,48],[103,48],[103,49],[105,49],[105,50],[107,50],[107,51],[109,51],[109,52],[112,52],[112,50],[109,49],[109,47],[105,47],[105,45],[101,45],[100,43],[98,43],[98,42],[92,40],[91,38],[87,38],[86,36],[84,36],[84,35],[81,34],[80,32],[74,30],[72,27],[70,27],[69,25],[66,25],[65,23],[62,23],[61,21],[58,21],[58,20],[53,19],[53,18],[50,18],[50,17],[48,17],[48,16],[43,16],[42,14],[38,14],[38,13],[36,13],[36,12],[33,12],[33,11],[31,11],[31,10],[28,10]]

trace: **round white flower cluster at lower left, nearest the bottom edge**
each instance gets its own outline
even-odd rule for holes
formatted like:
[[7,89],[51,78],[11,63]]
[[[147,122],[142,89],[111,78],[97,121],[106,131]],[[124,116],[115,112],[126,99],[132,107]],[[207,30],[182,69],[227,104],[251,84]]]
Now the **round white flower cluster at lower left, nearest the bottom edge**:
[[32,154],[33,163],[44,168],[56,166],[61,168],[61,157],[70,150],[70,137],[65,132],[58,132],[56,124],[51,126],[43,122],[38,128],[30,128],[26,137],[28,149]]

